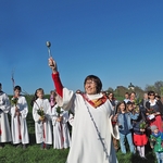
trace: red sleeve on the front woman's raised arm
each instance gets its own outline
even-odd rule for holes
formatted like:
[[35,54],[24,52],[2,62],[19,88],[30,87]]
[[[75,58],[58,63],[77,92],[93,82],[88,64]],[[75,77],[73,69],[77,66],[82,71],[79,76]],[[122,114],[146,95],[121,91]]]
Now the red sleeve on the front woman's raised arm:
[[63,98],[63,85],[61,83],[59,72],[55,74],[52,74],[52,79],[53,79],[54,87],[57,89],[58,95]]

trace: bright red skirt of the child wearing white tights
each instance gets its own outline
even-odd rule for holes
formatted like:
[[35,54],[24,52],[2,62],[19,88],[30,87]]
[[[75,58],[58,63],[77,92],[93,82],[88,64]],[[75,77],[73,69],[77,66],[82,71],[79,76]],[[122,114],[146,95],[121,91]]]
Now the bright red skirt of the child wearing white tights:
[[142,134],[142,135],[134,134],[133,139],[134,139],[135,146],[145,146],[148,142],[148,138],[146,134]]

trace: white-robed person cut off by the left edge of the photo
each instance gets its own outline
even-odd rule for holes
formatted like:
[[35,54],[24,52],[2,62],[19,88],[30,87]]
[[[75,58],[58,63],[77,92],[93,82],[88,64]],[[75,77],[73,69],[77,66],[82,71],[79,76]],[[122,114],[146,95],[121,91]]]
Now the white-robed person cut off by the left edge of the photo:
[[0,84],[0,148],[4,146],[4,142],[10,142],[12,140],[8,120],[9,111],[10,100],[7,93],[2,91],[2,84]]

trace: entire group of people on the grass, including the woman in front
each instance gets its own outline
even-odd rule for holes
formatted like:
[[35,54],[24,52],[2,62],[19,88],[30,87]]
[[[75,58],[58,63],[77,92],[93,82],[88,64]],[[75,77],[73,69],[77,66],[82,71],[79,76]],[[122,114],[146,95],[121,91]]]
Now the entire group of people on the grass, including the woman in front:
[[[66,163],[117,163],[116,151],[125,154],[127,140],[133,154],[138,152],[147,160],[145,147],[149,143],[158,162],[163,163],[163,104],[154,91],[145,93],[140,102],[135,92],[126,92],[124,100],[117,101],[113,92],[101,91],[99,77],[89,75],[84,80],[85,92],[73,92],[63,87],[52,58],[49,66],[55,91],[45,99],[43,89],[38,88],[30,103],[36,143],[41,150],[52,143],[54,149],[70,148]],[[0,148],[4,142],[23,149],[29,143],[28,104],[21,91],[15,86],[10,102],[0,84]]]

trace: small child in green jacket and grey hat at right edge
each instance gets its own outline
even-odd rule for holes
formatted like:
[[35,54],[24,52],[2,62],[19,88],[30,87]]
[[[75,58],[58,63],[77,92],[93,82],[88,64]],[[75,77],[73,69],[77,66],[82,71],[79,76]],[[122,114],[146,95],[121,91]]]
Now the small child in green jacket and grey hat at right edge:
[[151,127],[150,145],[154,149],[158,163],[163,163],[163,133],[155,125]]

